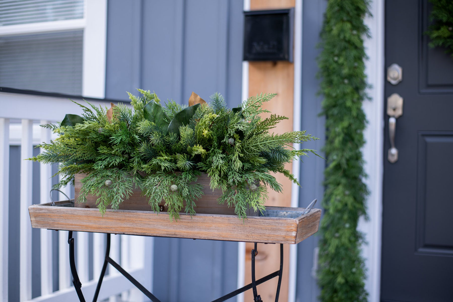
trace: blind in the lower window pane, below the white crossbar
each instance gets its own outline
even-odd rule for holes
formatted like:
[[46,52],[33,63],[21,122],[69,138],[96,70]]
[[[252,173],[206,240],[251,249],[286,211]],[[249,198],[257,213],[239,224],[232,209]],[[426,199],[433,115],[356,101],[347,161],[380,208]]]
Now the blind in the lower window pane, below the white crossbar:
[[0,86],[82,95],[83,31],[0,37]]

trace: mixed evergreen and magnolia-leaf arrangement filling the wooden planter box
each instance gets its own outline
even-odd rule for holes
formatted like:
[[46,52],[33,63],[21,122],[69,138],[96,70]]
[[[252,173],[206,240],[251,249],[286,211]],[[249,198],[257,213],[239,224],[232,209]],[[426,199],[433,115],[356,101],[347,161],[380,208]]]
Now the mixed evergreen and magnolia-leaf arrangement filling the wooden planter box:
[[139,90],[140,97],[129,94],[130,104],[107,108],[80,105],[83,115],[66,115],[59,125],[44,125],[59,137],[41,144],[43,153],[31,158],[41,163],[60,163],[62,180],[57,187],[82,179],[83,202],[87,195],[98,196],[101,212],[107,206],[118,209],[137,187],[149,197],[153,211],[165,200],[170,219],[183,210],[195,214],[196,201],[202,196],[197,183],[201,173],[211,177],[211,188],[222,189],[219,203],[235,207],[246,217],[249,208],[263,211],[267,187],[281,191],[272,173],[283,173],[285,163],[312,150],[296,150],[293,144],[315,139],[305,131],[271,134],[284,116],[260,115],[261,108],[274,94],[249,98],[239,107],[226,108],[223,97],[215,93],[207,104],[193,93],[189,106],[168,101],[165,106],[155,93]]

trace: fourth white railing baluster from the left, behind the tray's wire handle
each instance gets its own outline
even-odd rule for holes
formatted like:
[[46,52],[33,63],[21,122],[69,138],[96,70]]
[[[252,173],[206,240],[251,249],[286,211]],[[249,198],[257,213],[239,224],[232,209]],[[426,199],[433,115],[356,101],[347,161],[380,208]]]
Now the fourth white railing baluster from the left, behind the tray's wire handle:
[[[71,197],[71,186],[68,184],[66,187],[60,189],[68,197]],[[59,200],[67,200],[67,197],[62,193],[58,193]],[[72,284],[70,277],[69,261],[69,244],[67,244],[67,231],[58,231],[58,275],[59,275],[59,289],[68,288]]]

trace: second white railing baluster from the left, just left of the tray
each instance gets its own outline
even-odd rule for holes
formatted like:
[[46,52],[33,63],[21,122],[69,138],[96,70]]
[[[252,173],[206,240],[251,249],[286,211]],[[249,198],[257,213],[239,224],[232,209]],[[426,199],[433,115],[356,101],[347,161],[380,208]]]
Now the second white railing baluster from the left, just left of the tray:
[[31,299],[31,224],[28,207],[32,204],[33,120],[22,120],[20,145],[20,301]]

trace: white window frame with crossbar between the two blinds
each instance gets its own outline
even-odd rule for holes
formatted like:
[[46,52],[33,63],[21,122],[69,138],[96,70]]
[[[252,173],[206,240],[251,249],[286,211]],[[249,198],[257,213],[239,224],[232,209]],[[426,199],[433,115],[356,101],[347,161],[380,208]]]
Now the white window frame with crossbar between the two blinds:
[[83,30],[82,96],[106,92],[107,0],[85,0],[82,19],[0,26],[0,37]]

